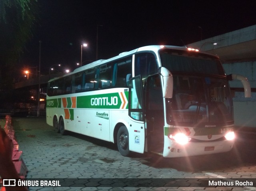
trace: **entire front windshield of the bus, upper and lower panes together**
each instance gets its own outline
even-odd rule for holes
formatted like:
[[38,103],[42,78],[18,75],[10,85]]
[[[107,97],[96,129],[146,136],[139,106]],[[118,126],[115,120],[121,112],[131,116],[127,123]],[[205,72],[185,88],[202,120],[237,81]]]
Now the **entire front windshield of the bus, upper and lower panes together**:
[[168,124],[231,124],[232,97],[220,61],[184,54],[160,52],[162,66],[170,70],[174,81],[173,96],[166,99]]

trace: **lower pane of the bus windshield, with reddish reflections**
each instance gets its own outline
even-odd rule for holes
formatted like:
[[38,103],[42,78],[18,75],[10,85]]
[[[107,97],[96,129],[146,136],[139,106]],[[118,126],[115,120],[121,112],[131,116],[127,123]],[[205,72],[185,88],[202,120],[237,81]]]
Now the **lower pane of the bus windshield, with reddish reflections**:
[[173,98],[166,99],[168,123],[197,126],[233,120],[226,79],[174,76]]

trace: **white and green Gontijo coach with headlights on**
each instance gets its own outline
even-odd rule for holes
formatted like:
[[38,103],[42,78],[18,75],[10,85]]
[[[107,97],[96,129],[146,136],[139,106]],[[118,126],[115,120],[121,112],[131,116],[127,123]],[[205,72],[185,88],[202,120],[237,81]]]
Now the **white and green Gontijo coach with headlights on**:
[[98,60],[48,82],[46,121],[56,132],[117,144],[119,152],[182,157],[234,144],[229,80],[220,59],[195,49],[152,45]]

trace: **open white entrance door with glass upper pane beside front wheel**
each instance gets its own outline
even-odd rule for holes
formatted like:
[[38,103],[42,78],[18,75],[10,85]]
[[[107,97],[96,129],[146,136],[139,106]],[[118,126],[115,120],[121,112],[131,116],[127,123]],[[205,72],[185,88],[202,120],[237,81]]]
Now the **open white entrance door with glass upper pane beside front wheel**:
[[145,123],[142,97],[142,79],[138,75],[129,83],[129,150],[144,153]]

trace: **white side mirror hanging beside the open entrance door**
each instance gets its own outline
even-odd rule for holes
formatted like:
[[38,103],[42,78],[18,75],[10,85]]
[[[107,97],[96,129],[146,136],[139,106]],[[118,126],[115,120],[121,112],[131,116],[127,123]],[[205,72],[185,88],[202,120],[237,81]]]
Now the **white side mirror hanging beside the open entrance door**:
[[165,67],[160,67],[158,69],[158,73],[162,76],[163,97],[172,98],[172,92],[173,92],[172,73],[170,73],[170,71]]

